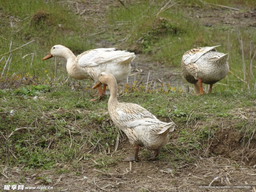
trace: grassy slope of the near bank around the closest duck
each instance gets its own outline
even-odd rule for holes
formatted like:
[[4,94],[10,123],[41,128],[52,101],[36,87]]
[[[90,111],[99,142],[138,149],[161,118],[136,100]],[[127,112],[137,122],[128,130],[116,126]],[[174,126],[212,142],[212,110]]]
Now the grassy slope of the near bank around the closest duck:
[[[31,93],[29,96],[28,92]],[[120,161],[119,156],[104,155],[114,151],[118,135],[107,110],[109,96],[92,103],[89,102],[89,91],[79,88],[71,91],[70,85],[54,84],[3,89],[0,90],[0,98],[1,163],[8,166],[22,163],[26,167],[51,169],[59,162],[72,162],[74,167],[79,167],[77,161],[83,156],[85,161],[98,168]],[[126,93],[119,97],[119,101],[129,103],[134,102],[134,98],[157,118],[162,121],[171,118],[177,125],[176,142],[161,150],[161,159],[193,162],[193,157],[188,154],[204,151],[207,142],[221,132],[222,127],[216,122],[222,122],[225,127],[231,124],[232,132],[243,136],[244,146],[248,141],[255,141],[255,125],[250,120],[251,116],[248,115],[247,120],[239,115],[239,111],[246,112],[245,106],[255,104],[255,94],[248,91],[228,90],[200,97],[176,91],[140,91]],[[255,112],[255,109],[251,110]],[[200,126],[193,130],[196,122]],[[147,150],[141,153],[149,155]]]

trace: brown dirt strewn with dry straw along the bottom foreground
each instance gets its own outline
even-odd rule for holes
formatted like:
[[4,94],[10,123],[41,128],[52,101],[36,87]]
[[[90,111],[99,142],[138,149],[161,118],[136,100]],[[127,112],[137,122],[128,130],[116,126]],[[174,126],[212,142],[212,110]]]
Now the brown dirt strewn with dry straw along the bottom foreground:
[[[172,135],[174,134],[172,133]],[[176,141],[173,139],[170,140],[170,143],[175,145]],[[118,156],[122,152],[127,156],[134,153],[133,147],[127,140],[120,143],[116,153],[108,154],[108,156]],[[173,156],[172,153],[169,155]],[[196,159],[193,164],[162,158],[155,161],[144,160],[138,163],[116,162],[116,165],[113,166],[95,168],[92,161],[82,159],[78,169],[72,168],[76,162],[71,164],[70,162],[57,163],[53,170],[38,170],[38,172],[33,173],[22,172],[17,167],[13,167],[5,170],[4,173],[9,178],[2,180],[4,182],[17,182],[17,179],[24,175],[23,182],[25,185],[53,187],[53,190],[48,191],[253,191],[256,175],[253,167],[223,155],[209,158],[201,157],[198,154],[190,155],[194,155]],[[143,159],[141,154],[140,157]],[[54,173],[61,169],[68,169],[70,173]],[[79,175],[75,173],[79,173]],[[35,184],[39,181],[36,177],[45,175],[48,175],[54,182],[52,184]],[[20,184],[24,184],[23,182]],[[244,190],[199,188],[200,186],[208,186],[210,183],[211,186],[248,184],[251,188]]]

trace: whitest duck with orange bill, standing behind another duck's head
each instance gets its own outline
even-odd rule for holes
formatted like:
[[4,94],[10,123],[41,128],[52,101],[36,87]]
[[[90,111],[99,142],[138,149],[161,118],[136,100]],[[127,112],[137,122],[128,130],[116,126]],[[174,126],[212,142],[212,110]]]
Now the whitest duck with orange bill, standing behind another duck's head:
[[[101,72],[110,71],[113,73],[116,80],[120,82],[130,75],[130,62],[135,58],[135,54],[115,49],[116,48],[92,49],[76,57],[69,48],[62,45],[55,45],[42,60],[51,57],[65,57],[67,59],[66,68],[68,74],[75,79],[90,79],[97,82]],[[106,84],[103,85],[103,91],[101,87],[99,87],[99,98],[94,98],[90,101],[101,99],[105,91]]]

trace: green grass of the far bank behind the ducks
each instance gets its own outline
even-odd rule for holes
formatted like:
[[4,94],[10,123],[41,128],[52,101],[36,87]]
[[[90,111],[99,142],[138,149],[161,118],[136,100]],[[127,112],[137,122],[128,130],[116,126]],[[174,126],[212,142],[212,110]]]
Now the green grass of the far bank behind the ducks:
[[[12,52],[12,54],[19,55],[13,56],[10,67],[7,66],[9,71],[5,73],[5,76],[10,77],[14,74],[14,77],[19,77],[18,74],[26,74],[28,77],[54,77],[54,60],[41,61],[41,58],[55,44],[64,45],[75,54],[80,54],[85,50],[99,48],[96,42],[112,42],[114,47],[134,51],[136,54],[142,53],[147,55],[151,61],[164,63],[165,66],[172,66],[178,71],[181,70],[182,55],[187,50],[195,47],[222,45],[217,50],[229,53],[228,62],[233,74],[229,73],[221,80],[216,91],[228,88],[231,90],[248,88],[239,79],[243,79],[243,67],[237,31],[243,39],[247,78],[251,59],[249,43],[256,40],[254,27],[232,26],[219,22],[212,27],[206,27],[204,22],[194,18],[193,13],[202,9],[215,18],[215,12],[212,11],[212,7],[215,6],[209,6],[199,0],[183,1],[166,10],[161,10],[166,2],[154,1],[153,4],[150,2],[125,2],[132,12],[116,2],[113,6],[109,6],[104,16],[95,15],[95,17],[100,17],[96,19],[94,15],[87,17],[86,14],[85,16],[76,14],[77,10],[72,9],[68,2],[49,1],[46,3],[46,1],[38,0],[31,3],[26,0],[21,4],[13,4],[11,1],[2,1],[0,6],[4,17],[2,17],[3,24],[0,28],[2,34],[0,55],[9,51],[11,41],[12,49],[14,49],[31,40],[36,40]],[[205,2],[239,8],[241,10],[237,11],[238,13],[243,13],[245,9],[255,6],[253,0],[235,3],[230,0]],[[230,13],[229,10],[226,11]],[[188,15],[188,12],[191,14]],[[254,50],[255,46],[252,46],[252,51]],[[8,54],[0,63],[1,71],[7,58]],[[65,60],[58,59],[57,63],[61,64],[58,65],[57,77],[67,77]],[[255,73],[255,70],[252,67],[252,73]],[[255,77],[251,77],[249,89],[254,89],[254,84]]]

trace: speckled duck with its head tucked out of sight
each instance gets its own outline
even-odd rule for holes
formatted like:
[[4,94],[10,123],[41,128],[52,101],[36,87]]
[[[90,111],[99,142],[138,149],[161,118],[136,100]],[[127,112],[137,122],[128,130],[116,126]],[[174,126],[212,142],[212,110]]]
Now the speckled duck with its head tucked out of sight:
[[[220,46],[220,45],[218,45]],[[191,49],[182,56],[182,73],[185,79],[194,84],[194,94],[204,94],[202,83],[212,85],[225,78],[229,72],[228,54],[217,52],[215,47]]]

